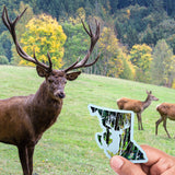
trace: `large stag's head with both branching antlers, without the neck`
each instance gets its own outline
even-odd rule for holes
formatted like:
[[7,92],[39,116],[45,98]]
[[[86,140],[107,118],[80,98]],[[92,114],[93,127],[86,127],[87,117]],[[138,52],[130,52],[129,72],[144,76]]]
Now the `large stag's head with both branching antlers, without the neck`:
[[93,48],[100,38],[100,23],[97,21],[95,21],[96,22],[96,32],[95,32],[95,34],[93,34],[91,26],[89,25],[89,30],[88,30],[82,21],[83,27],[84,27],[86,34],[91,38],[91,45],[88,50],[88,54],[85,55],[85,57],[81,61],[77,60],[74,63],[72,63],[70,67],[68,67],[65,70],[54,70],[49,52],[47,52],[48,62],[49,62],[49,66],[47,66],[47,65],[38,61],[38,59],[35,56],[35,50],[34,50],[34,56],[31,57],[23,50],[23,48],[20,46],[20,44],[18,42],[16,33],[15,33],[15,25],[16,25],[18,21],[22,18],[22,15],[25,13],[25,11],[26,11],[26,9],[20,15],[18,15],[13,22],[11,22],[9,19],[9,15],[8,15],[7,8],[4,7],[3,12],[2,12],[2,21],[12,35],[18,54],[23,59],[36,65],[36,70],[37,70],[38,75],[46,79],[45,82],[47,84],[49,93],[52,95],[54,98],[56,98],[56,100],[63,98],[66,96],[63,90],[65,90],[65,85],[67,83],[67,80],[73,81],[81,73],[81,71],[75,71],[75,72],[70,72],[70,71],[79,69],[79,68],[91,67],[100,58],[100,55],[98,55],[94,61],[88,63],[90,55],[93,51]]

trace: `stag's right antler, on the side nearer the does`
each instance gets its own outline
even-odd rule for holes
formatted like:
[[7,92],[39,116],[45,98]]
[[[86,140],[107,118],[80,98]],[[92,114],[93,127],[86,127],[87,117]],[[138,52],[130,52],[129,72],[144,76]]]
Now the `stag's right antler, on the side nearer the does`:
[[85,57],[79,62],[79,59],[72,63],[70,67],[68,67],[67,69],[65,69],[63,71],[65,72],[68,72],[70,70],[73,70],[73,69],[78,69],[78,68],[85,68],[85,67],[91,67],[92,65],[94,65],[97,59],[100,58],[100,54],[98,56],[95,58],[95,60],[91,63],[86,63],[89,58],[90,58],[90,55],[92,54],[93,51],[93,48],[96,44],[96,42],[100,38],[100,23],[95,20],[95,23],[96,23],[96,32],[95,34],[92,33],[92,30],[91,30],[91,26],[89,25],[89,31],[88,28],[85,27],[85,24],[83,21],[81,21],[82,24],[83,24],[83,27],[85,30],[85,32],[88,33],[88,35],[90,36],[91,38],[91,45],[90,45],[90,49],[88,50],[88,54],[85,55]]

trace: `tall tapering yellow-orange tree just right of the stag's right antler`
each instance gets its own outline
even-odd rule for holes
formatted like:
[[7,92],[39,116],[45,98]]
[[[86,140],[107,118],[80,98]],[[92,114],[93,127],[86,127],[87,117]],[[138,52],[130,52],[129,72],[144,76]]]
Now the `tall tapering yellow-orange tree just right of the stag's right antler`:
[[104,27],[98,42],[102,57],[98,63],[101,63],[101,74],[119,77],[124,71],[121,49],[119,48],[119,42],[116,38],[114,30],[110,27]]

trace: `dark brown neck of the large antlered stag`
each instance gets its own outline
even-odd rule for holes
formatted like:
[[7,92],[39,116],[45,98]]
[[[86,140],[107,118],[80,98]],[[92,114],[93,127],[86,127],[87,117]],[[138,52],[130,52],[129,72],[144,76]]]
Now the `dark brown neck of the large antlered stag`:
[[36,94],[31,97],[28,106],[35,133],[42,135],[59,116],[62,100],[54,100],[47,90],[46,82],[43,82]]

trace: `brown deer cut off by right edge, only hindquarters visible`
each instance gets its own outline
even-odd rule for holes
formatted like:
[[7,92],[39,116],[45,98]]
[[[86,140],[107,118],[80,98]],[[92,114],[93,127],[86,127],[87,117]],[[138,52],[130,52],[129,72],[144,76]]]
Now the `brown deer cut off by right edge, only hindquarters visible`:
[[175,120],[175,104],[162,103],[156,106],[156,110],[160,113],[161,118],[155,122],[155,135],[158,135],[158,127],[163,121],[163,127],[167,133],[167,137],[171,138],[166,129],[166,119]]

